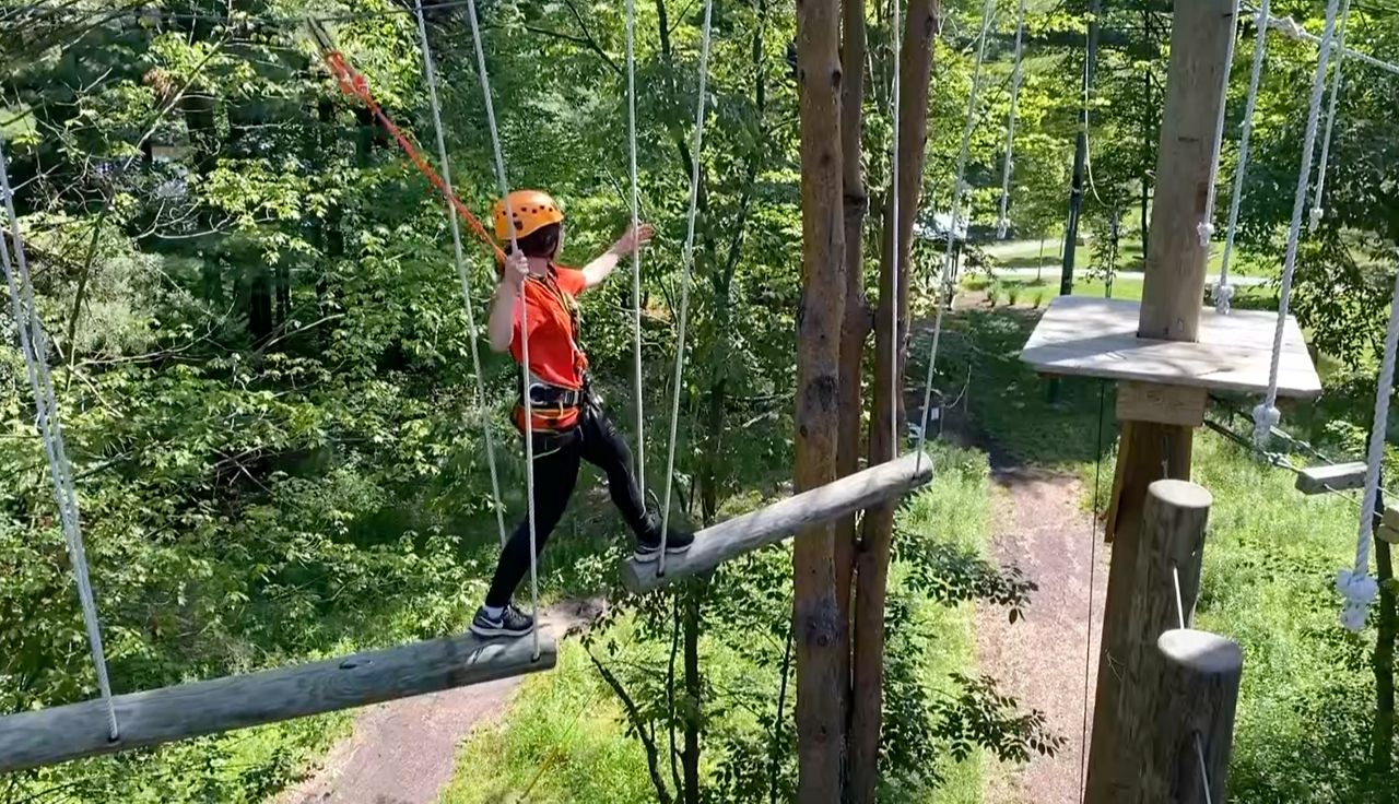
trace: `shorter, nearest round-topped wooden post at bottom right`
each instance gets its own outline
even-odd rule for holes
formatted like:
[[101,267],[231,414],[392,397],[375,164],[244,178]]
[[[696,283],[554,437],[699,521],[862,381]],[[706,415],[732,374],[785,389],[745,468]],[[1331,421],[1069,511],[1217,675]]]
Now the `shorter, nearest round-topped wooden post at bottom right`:
[[1181,628],[1156,646],[1156,723],[1140,745],[1142,794],[1130,801],[1223,803],[1244,652],[1223,636]]

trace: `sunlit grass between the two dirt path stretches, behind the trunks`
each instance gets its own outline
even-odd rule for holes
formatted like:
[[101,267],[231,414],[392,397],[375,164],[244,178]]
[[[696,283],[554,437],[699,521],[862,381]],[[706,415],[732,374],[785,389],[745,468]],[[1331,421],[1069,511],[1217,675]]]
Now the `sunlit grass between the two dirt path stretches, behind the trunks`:
[[[936,445],[935,450],[939,482],[902,508],[900,523],[911,531],[981,552],[988,538],[992,494],[986,457],[943,445]],[[789,550],[786,547],[764,552],[771,561],[789,562]],[[901,575],[901,565],[895,561],[895,584]],[[772,604],[783,610],[790,605],[785,600],[775,600]],[[914,601],[914,621],[919,639],[926,639],[929,645],[926,664],[919,674],[928,689],[935,694],[950,691],[951,673],[977,674],[974,604],[949,608],[933,600],[918,598]],[[610,661],[639,666],[660,659],[655,643],[644,645],[632,638],[632,632],[634,624],[621,621],[606,635],[609,640],[624,646]],[[779,682],[776,664],[754,667],[746,657],[725,649],[719,640],[701,638],[701,667],[708,687],[758,687],[764,691],[765,706],[775,709]],[[793,692],[789,685],[788,716],[792,712]],[[711,741],[737,730],[767,730],[751,712],[711,710],[706,716],[709,720],[705,728]],[[663,738],[665,735],[658,734],[658,740]],[[786,756],[786,761],[795,763],[795,755]],[[765,756],[754,756],[751,762],[767,768]],[[943,784],[937,790],[888,780],[881,800],[977,804],[981,801],[983,769],[989,762],[982,752],[975,752],[964,762],[946,761],[939,768]],[[713,775],[719,772],[716,759],[706,755],[702,775],[713,780]],[[669,782],[669,768],[666,777]],[[576,639],[560,645],[560,663],[553,673],[530,677],[525,682],[498,724],[478,730],[463,744],[456,779],[442,797],[443,804],[525,800],[539,804],[639,804],[656,800],[642,747],[628,734],[617,698]]]

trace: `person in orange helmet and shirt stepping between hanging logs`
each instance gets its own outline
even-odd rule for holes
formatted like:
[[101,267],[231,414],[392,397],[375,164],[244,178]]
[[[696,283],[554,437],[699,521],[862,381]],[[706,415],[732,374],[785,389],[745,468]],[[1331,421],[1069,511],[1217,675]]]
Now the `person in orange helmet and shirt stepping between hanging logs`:
[[[508,201],[508,204],[506,204]],[[520,433],[533,431],[534,440],[534,547],[544,551],[550,533],[564,516],[568,498],[578,482],[579,461],[607,473],[607,491],[627,526],[637,534],[637,561],[660,557],[660,517],[646,512],[637,477],[632,474],[631,450],[617,433],[602,407],[602,400],[588,382],[588,355],[578,345],[576,296],[595,288],[613,273],[618,260],[645,246],[652,228],[644,225],[613,243],[600,257],[582,270],[565,268],[555,260],[564,249],[564,213],[547,193],[516,190],[494,210],[495,236],[505,249],[501,281],[491,299],[491,348],[509,350],[523,364],[520,306],[529,323],[529,394],[533,407],[532,426],[525,425],[525,401],[515,405],[512,419]],[[511,246],[513,217],[515,243]],[[690,550],[694,534],[670,529],[666,552]],[[523,636],[533,618],[511,596],[529,572],[529,516],[501,551],[495,577],[485,593],[485,604],[471,621],[477,636]]]

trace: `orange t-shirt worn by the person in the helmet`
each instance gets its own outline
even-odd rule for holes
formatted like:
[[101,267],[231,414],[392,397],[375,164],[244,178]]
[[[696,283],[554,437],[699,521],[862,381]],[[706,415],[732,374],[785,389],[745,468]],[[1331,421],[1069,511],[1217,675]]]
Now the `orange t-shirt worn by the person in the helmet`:
[[[525,364],[523,317],[529,323],[529,373],[534,380],[562,389],[583,387],[588,355],[578,345],[576,298],[586,284],[582,271],[560,266],[550,266],[544,277],[525,281],[525,303],[515,306],[511,355],[515,362]],[[576,408],[534,405],[534,426],[539,429],[568,429],[576,421]],[[515,410],[515,424],[523,429],[523,404]]]

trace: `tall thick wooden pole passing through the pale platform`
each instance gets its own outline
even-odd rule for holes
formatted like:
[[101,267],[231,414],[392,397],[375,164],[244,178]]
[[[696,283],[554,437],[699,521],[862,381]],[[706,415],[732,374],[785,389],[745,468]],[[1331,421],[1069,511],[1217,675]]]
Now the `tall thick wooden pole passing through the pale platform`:
[[[1195,340],[1199,331],[1209,252],[1200,245],[1198,227],[1213,192],[1210,161],[1214,124],[1223,102],[1233,32],[1231,0],[1181,0],[1175,4],[1151,213],[1151,253],[1146,260],[1137,320],[1142,337]],[[1147,491],[1154,488],[1157,480],[1191,477],[1193,436],[1195,431],[1188,425],[1122,422],[1107,522],[1107,536],[1114,545],[1088,758],[1090,803],[1121,801],[1114,794],[1115,786],[1130,787],[1132,779],[1137,777],[1135,772],[1128,772],[1136,759],[1122,756],[1121,748],[1129,744],[1126,734],[1137,727],[1143,709],[1135,698],[1137,692],[1132,681],[1121,674],[1125,663],[1140,660],[1143,645],[1154,645],[1168,625],[1160,619],[1142,621],[1147,611],[1161,611],[1161,600],[1144,598],[1172,600],[1174,596],[1174,586],[1165,594],[1160,586],[1143,586],[1137,576],[1142,566],[1139,552],[1150,562],[1151,555],[1168,550],[1161,541],[1168,531],[1143,531],[1143,524],[1150,529],[1153,522],[1151,516],[1143,515],[1147,513]],[[1200,527],[1203,531],[1203,517]],[[1186,583],[1184,572],[1181,580]],[[1123,695],[1128,696],[1125,701]]]

